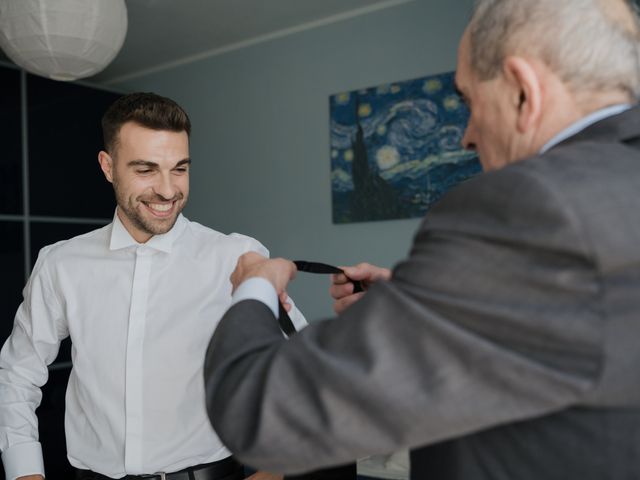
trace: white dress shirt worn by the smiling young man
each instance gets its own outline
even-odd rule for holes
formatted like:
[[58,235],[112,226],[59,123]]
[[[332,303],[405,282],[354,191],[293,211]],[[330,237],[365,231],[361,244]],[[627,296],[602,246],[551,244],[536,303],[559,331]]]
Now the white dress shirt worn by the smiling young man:
[[[35,408],[47,365],[71,336],[65,431],[72,465],[119,478],[230,455],[205,410],[203,362],[231,304],[229,276],[256,240],[182,215],[137,243],[113,223],[40,251],[0,353],[7,479],[43,474]],[[296,327],[306,324],[293,309]]]

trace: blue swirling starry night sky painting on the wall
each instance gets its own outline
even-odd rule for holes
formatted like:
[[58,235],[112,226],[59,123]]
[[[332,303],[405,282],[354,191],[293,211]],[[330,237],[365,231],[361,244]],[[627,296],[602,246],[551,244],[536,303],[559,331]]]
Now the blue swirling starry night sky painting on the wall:
[[480,171],[454,74],[330,97],[334,223],[422,217]]

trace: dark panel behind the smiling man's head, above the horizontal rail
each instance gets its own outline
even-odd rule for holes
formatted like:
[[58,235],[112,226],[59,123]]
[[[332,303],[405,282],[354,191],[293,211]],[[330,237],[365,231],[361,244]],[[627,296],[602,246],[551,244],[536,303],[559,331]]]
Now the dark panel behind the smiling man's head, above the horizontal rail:
[[32,215],[111,218],[113,189],[98,165],[100,120],[119,96],[27,76]]

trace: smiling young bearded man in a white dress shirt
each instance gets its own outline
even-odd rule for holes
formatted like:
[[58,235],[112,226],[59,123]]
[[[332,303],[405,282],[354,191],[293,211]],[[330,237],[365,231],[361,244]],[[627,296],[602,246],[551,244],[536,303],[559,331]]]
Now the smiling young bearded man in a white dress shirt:
[[[78,479],[243,478],[207,421],[202,361],[237,258],[266,250],[181,215],[191,125],[175,102],[126,95],[102,123],[113,222],[42,249],[0,354],[6,477],[44,474],[34,412],[47,365],[70,336],[65,431]],[[292,320],[304,324],[297,309]],[[254,474],[266,478],[279,477]]]

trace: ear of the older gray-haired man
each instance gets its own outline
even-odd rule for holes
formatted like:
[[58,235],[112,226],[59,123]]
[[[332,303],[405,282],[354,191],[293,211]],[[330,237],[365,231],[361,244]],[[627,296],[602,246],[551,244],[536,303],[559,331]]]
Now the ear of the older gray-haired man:
[[504,60],[503,73],[517,109],[516,128],[526,133],[540,120],[542,111],[542,83],[535,66],[523,57],[511,56]]

